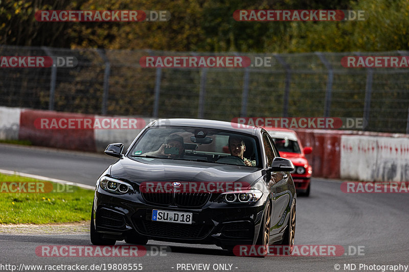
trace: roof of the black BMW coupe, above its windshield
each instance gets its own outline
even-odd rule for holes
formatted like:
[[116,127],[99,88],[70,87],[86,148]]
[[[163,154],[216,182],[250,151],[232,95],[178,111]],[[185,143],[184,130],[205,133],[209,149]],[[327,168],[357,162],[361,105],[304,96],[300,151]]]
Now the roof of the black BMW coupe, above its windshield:
[[191,118],[170,118],[170,119],[156,119],[149,123],[149,127],[160,127],[160,126],[177,126],[177,127],[197,127],[197,128],[207,128],[207,129],[220,129],[228,130],[238,133],[246,133],[256,135],[257,130],[261,128],[253,126],[238,125],[235,122],[225,122],[217,120],[206,120],[206,119],[191,119]]

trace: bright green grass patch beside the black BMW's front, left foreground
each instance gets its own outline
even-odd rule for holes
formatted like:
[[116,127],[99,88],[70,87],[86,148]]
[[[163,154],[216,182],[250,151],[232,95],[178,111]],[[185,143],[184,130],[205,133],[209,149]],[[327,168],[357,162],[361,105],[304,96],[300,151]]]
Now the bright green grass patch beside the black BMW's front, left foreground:
[[[47,224],[90,219],[93,190],[74,186],[69,192],[11,193],[5,192],[5,182],[43,181],[0,174],[0,224]],[[60,186],[52,184],[54,188]]]

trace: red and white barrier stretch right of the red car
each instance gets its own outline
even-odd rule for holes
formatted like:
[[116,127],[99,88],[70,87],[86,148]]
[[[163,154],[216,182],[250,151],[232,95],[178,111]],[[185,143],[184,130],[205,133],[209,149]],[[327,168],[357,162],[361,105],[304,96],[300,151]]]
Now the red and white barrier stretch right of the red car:
[[296,130],[312,146],[314,177],[409,181],[409,135],[362,131]]

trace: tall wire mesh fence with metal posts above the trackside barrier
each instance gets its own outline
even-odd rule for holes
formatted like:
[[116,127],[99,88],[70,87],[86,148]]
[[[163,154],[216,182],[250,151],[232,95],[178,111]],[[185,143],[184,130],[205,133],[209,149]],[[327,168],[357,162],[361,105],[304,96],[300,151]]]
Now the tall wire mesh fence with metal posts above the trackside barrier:
[[[75,67],[0,68],[0,105],[149,117],[352,117],[363,130],[409,133],[409,69],[346,68],[345,56],[0,46],[0,56],[71,56]],[[143,56],[247,56],[245,68],[144,68]]]

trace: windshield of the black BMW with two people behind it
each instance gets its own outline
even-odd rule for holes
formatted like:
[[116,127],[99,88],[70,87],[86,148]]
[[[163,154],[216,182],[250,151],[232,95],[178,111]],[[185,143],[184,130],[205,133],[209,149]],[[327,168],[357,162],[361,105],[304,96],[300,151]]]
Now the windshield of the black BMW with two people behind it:
[[152,127],[132,146],[128,156],[258,167],[255,138],[229,131],[192,127]]

